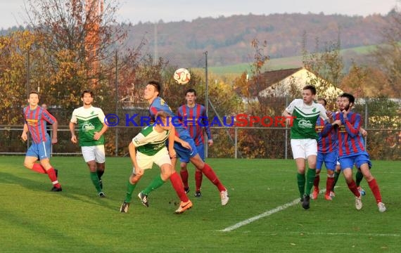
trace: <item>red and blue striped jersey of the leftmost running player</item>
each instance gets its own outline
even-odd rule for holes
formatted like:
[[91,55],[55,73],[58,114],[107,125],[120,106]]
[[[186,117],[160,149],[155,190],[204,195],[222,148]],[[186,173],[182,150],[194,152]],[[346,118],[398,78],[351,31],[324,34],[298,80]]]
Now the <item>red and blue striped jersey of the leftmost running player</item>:
[[46,109],[37,106],[34,110],[31,110],[28,105],[23,109],[25,123],[28,126],[28,130],[32,136],[33,143],[41,143],[42,141],[47,141],[46,138],[46,126],[49,122],[54,124],[56,118],[53,117]]

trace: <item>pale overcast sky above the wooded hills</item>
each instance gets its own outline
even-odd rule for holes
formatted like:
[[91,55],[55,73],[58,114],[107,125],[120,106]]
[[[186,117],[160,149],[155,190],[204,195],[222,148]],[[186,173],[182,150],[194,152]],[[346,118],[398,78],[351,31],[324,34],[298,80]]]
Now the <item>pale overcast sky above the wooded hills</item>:
[[[21,16],[27,0],[0,0],[0,28],[24,25]],[[107,3],[107,0],[105,0]],[[385,15],[400,5],[397,0],[117,0],[118,20],[164,22],[243,14],[320,13],[344,15]]]

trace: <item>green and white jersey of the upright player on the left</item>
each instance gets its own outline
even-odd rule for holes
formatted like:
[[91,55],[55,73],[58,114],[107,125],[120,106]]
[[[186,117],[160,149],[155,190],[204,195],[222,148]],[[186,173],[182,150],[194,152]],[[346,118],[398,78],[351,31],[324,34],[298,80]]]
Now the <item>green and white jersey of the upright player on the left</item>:
[[101,131],[105,115],[101,108],[91,106],[77,108],[72,112],[71,122],[78,125],[79,146],[104,145],[104,136],[94,140],[95,132]]

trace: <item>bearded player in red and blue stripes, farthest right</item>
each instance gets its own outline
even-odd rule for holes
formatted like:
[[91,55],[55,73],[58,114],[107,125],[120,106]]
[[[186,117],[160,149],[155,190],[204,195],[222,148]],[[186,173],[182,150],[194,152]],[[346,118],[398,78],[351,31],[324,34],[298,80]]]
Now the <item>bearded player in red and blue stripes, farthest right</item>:
[[369,154],[364,148],[364,141],[359,130],[362,124],[361,115],[352,112],[351,108],[355,103],[355,97],[350,93],[343,93],[340,100],[340,112],[333,115],[335,119],[332,125],[337,125],[338,157],[341,170],[343,171],[348,188],[355,195],[356,209],[362,209],[361,193],[352,179],[352,167],[355,166],[362,171],[364,178],[371,188],[376,199],[378,211],[385,212],[386,206],[381,200],[380,189],[374,176],[371,175],[371,161]]

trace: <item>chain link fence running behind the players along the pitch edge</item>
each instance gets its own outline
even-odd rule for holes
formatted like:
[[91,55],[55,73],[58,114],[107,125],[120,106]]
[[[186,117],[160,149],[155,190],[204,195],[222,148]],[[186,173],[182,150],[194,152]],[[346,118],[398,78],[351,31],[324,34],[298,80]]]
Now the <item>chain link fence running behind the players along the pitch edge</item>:
[[[272,108],[265,110],[269,115],[280,116],[286,108],[288,99],[272,102]],[[269,108],[266,105],[265,108]],[[117,126],[106,131],[106,153],[109,156],[127,156],[128,144],[141,130],[141,117],[148,117],[145,106],[130,109],[121,109],[109,112],[119,117]],[[218,110],[218,108],[217,108]],[[374,160],[401,160],[401,110],[400,100],[387,98],[359,99],[353,109],[362,115],[362,127],[368,131],[366,146],[371,159]],[[53,155],[80,155],[80,148],[70,141],[68,120],[72,112],[51,108],[51,113],[61,122],[58,127],[58,143],[52,145]],[[221,114],[221,112],[220,112]],[[134,118],[132,118],[136,115]],[[209,112],[215,117],[217,112]],[[262,117],[262,115],[259,115]],[[273,116],[274,117],[274,116]],[[133,122],[136,122],[133,124]],[[266,123],[266,122],[265,122]],[[266,124],[265,124],[266,125]],[[228,126],[214,124],[210,127],[214,145],[208,147],[208,157],[215,158],[276,158],[292,159],[290,145],[290,129],[280,124],[278,126],[262,126],[255,123],[253,126]],[[20,135],[23,125],[0,125],[0,154],[23,155],[30,143],[24,142]]]

